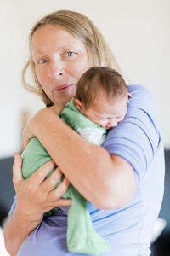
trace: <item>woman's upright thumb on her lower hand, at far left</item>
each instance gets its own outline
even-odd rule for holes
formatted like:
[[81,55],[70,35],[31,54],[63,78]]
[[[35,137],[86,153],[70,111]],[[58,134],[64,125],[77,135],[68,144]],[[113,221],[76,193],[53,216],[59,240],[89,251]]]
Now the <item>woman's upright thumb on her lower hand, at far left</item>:
[[19,183],[23,180],[22,172],[21,172],[21,166],[22,166],[22,158],[20,154],[15,153],[14,154],[14,164],[13,164],[13,183]]

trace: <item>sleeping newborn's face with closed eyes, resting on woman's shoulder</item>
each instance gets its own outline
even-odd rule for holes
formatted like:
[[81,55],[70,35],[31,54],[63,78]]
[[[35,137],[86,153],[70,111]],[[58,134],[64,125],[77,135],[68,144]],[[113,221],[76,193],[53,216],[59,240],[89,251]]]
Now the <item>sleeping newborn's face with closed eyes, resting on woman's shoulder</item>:
[[127,113],[127,96],[116,96],[114,100],[108,99],[108,97],[101,95],[97,96],[93,104],[88,109],[83,109],[81,112],[94,121],[94,123],[110,129],[116,127],[119,122],[124,119]]

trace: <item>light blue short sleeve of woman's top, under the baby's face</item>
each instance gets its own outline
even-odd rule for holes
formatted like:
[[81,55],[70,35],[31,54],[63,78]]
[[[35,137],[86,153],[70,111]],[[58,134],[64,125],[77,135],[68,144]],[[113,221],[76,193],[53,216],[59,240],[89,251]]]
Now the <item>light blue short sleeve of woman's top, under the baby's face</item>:
[[137,181],[144,177],[161,144],[161,123],[156,103],[144,86],[128,86],[132,94],[125,119],[109,131],[103,144],[110,154],[116,154],[133,166]]

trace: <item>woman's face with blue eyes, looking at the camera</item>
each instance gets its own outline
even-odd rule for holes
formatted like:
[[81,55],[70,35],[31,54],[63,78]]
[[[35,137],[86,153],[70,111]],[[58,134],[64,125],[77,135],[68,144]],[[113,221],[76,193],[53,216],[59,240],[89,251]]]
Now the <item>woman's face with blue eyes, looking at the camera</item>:
[[82,41],[61,26],[39,28],[31,40],[31,55],[37,79],[54,104],[69,102],[82,73],[94,66]]

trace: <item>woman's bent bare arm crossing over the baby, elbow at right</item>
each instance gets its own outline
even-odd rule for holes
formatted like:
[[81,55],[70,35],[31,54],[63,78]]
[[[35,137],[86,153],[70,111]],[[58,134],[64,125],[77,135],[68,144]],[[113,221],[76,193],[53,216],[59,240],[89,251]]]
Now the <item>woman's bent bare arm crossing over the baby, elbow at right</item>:
[[38,137],[65,176],[96,207],[122,207],[132,198],[132,166],[105,148],[86,142],[56,116],[54,107],[42,109],[31,119],[24,131],[27,136]]

